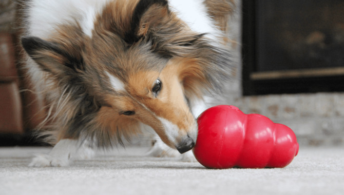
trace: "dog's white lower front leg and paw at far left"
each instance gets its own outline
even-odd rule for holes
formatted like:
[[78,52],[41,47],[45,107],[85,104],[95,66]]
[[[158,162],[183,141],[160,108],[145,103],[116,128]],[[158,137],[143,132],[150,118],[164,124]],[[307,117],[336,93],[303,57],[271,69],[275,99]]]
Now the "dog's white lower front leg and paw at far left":
[[64,167],[80,149],[78,140],[60,140],[49,154],[37,154],[29,164],[30,167]]

